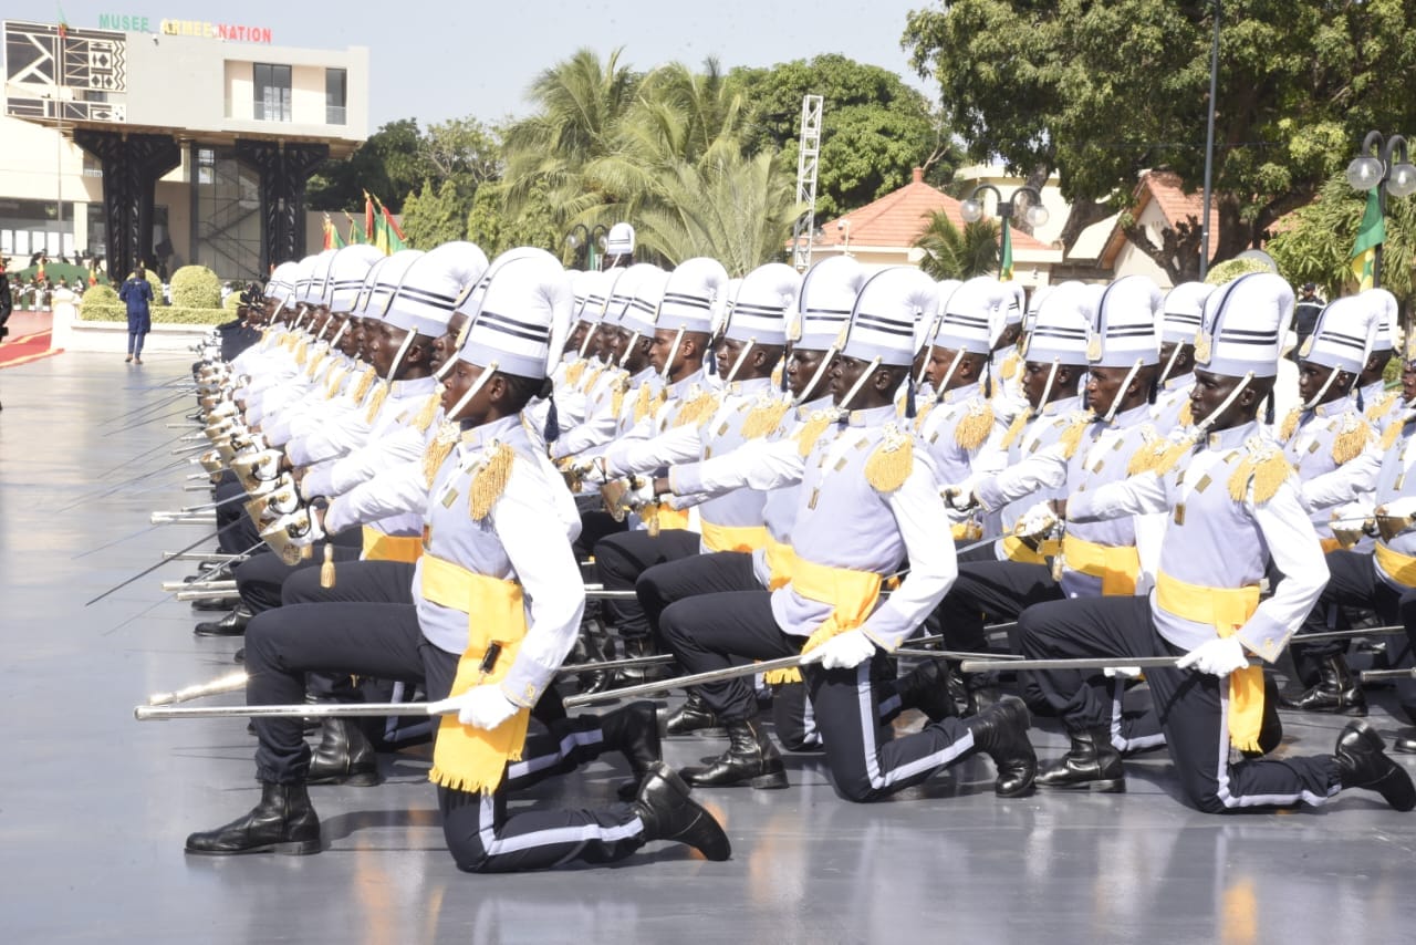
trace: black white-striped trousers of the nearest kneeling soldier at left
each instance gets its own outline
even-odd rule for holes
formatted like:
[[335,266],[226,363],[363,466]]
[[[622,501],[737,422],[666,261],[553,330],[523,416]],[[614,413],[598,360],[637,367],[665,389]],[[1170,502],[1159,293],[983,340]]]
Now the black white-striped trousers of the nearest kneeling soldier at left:
[[[246,704],[299,703],[310,670],[418,679],[430,700],[446,698],[457,656],[433,646],[404,604],[302,604],[268,611],[246,628]],[[508,791],[564,769],[565,757],[588,755],[590,740],[566,740],[565,731],[528,735],[524,762],[493,792],[438,788],[443,836],[459,868],[476,873],[538,870],[571,860],[606,863],[643,844],[644,827],[633,808],[602,810],[528,810],[507,813]],[[256,775],[275,783],[299,783],[310,748],[299,718],[258,718]],[[556,758],[555,764],[527,764]]]

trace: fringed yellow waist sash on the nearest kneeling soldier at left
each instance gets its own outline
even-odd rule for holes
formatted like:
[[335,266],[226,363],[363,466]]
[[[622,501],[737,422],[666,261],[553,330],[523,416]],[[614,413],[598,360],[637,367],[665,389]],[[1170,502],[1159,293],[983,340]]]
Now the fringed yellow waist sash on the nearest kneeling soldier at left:
[[[521,585],[500,581],[445,558],[425,554],[422,594],[442,606],[467,615],[467,649],[457,662],[457,674],[449,696],[462,696],[473,686],[501,681],[517,660],[517,650],[527,635]],[[486,676],[481,660],[497,642],[501,655]],[[527,740],[531,710],[523,708],[491,731],[463,725],[456,715],[443,715],[433,745],[433,768],[428,779],[443,788],[469,792],[496,791],[506,775],[507,761],[520,761]]]

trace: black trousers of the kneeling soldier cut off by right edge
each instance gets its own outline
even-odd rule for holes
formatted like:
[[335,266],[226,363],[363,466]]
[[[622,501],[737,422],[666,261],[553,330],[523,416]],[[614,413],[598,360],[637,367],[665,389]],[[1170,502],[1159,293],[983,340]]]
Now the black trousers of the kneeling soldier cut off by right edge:
[[[1376,611],[1385,623],[1402,623],[1406,636],[1388,636],[1386,653],[1391,666],[1412,666],[1412,652],[1416,646],[1416,588],[1396,591],[1376,577],[1372,555],[1359,551],[1328,551],[1328,578],[1323,596],[1303,622],[1301,633],[1321,633],[1328,629],[1327,615],[1331,606],[1365,606]],[[1318,643],[1293,643],[1289,652],[1298,679],[1306,686],[1318,681],[1318,664],[1328,656],[1347,652],[1349,640],[1323,640]],[[1416,680],[1399,680],[1396,691],[1402,706],[1416,711]],[[1416,717],[1413,717],[1416,721]]]

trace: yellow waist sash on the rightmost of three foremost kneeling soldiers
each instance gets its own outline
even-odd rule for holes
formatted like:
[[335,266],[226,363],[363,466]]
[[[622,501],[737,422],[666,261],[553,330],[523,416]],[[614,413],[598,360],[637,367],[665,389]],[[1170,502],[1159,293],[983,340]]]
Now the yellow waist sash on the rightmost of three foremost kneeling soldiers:
[[[1259,587],[1206,588],[1161,571],[1155,575],[1155,605],[1187,621],[1208,623],[1226,639],[1259,609]],[[1229,742],[1240,751],[1260,751],[1262,727],[1263,667],[1247,666],[1229,674]]]

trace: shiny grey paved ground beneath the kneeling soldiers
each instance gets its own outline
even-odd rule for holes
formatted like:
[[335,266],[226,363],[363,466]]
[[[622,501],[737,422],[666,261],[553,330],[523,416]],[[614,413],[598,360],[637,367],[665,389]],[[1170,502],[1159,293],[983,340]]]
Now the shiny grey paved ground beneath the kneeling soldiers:
[[[84,604],[201,537],[147,528],[152,510],[197,496],[181,492],[185,466],[164,469],[188,432],[164,426],[191,408],[171,387],[184,371],[173,356],[135,368],[69,353],[0,375],[3,942],[1409,941],[1416,815],[1357,792],[1205,816],[1174,798],[1164,755],[1133,762],[1120,796],[1001,802],[988,765],[969,762],[875,806],[838,800],[813,759],[789,758],[789,791],[701,792],[728,825],[729,863],[673,847],[473,877],[442,846],[426,755],[409,752],[385,759],[381,788],[312,791],[320,856],[187,857],[188,832],[256,800],[253,740],[239,720],[143,724],[132,710],[229,672],[236,642],[194,638],[188,606],[164,599],[180,564]],[[1328,751],[1340,728],[1284,721],[1284,751]],[[1395,727],[1385,708],[1374,721]],[[1063,744],[1034,741],[1044,757]],[[687,740],[667,755],[718,749]],[[598,805],[619,775],[598,764],[518,803]]]

